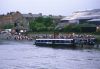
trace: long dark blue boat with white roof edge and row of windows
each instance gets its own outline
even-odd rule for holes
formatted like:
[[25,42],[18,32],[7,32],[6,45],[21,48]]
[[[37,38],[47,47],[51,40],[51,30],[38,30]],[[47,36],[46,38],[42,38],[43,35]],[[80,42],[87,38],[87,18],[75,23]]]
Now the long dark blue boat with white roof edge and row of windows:
[[36,39],[36,46],[73,47],[74,39]]

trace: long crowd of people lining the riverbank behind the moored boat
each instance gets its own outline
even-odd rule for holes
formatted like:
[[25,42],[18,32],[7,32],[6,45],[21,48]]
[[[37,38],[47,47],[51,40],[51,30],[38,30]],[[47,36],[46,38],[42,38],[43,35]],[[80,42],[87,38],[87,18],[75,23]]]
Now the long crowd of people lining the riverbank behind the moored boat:
[[90,40],[91,38],[95,38],[93,35],[87,34],[75,34],[75,33],[67,33],[67,34],[31,34],[25,35],[21,33],[1,33],[0,38],[8,39],[8,40],[33,40],[33,39],[81,39],[81,40]]

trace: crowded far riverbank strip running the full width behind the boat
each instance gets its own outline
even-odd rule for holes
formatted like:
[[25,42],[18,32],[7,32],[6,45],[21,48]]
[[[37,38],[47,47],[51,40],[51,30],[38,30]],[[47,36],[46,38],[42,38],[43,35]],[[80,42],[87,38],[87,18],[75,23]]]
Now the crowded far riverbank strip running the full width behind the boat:
[[54,36],[56,38],[59,37],[66,37],[66,36],[92,36],[94,38],[97,39],[97,43],[100,44],[100,35],[98,34],[93,34],[93,33],[65,33],[65,32],[29,32],[29,33],[25,33],[25,34],[21,34],[21,35],[12,35],[12,34],[0,34],[0,39],[5,39],[5,40],[9,40],[14,39],[14,40],[34,40],[37,38],[54,38]]

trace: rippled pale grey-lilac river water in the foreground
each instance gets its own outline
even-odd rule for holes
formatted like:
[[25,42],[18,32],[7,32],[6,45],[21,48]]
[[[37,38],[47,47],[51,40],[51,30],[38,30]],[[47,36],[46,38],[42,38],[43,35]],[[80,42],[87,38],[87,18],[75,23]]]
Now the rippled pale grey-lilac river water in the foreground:
[[0,69],[100,69],[100,51],[37,47],[32,41],[0,41]]

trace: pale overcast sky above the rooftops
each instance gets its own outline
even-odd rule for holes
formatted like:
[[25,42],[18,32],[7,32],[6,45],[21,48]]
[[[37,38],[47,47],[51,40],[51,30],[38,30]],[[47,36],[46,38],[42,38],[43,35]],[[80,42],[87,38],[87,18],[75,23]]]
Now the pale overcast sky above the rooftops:
[[66,16],[91,9],[100,9],[100,0],[0,0],[0,14],[20,11]]

